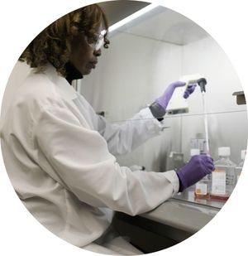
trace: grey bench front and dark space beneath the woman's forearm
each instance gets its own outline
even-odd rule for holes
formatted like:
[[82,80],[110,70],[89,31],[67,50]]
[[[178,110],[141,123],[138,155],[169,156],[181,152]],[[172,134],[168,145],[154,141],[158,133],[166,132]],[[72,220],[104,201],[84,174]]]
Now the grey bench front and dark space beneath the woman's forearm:
[[188,239],[207,225],[225,202],[195,199],[192,191],[185,191],[145,214],[116,212],[113,225],[131,244],[149,254]]

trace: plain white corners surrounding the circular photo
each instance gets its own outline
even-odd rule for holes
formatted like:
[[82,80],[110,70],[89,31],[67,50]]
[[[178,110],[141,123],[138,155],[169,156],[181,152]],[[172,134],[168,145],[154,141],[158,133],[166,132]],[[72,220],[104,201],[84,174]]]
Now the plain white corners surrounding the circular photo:
[[[96,1],[1,1],[0,94],[21,51],[50,22],[75,8]],[[99,1],[98,1],[99,2]],[[203,27],[227,53],[247,92],[248,37],[246,0],[171,0],[161,2]],[[235,131],[234,131],[235,132]],[[0,254],[1,255],[83,255],[90,254],[61,241],[32,218],[17,198],[1,157],[0,171]],[[248,228],[247,161],[241,181],[220,213],[198,234],[160,255],[233,255],[247,251]]]

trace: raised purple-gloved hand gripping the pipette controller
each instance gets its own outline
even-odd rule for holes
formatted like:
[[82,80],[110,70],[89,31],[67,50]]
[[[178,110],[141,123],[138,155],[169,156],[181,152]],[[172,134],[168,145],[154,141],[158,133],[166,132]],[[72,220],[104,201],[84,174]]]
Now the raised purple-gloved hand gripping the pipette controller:
[[[155,102],[157,104],[160,104],[160,106],[162,106],[166,110],[166,108],[169,104],[169,100],[171,99],[172,94],[174,93],[174,89],[176,89],[177,87],[184,86],[184,85],[186,85],[186,83],[181,82],[181,81],[177,81],[177,82],[174,82],[174,83],[170,84],[165,89],[165,93],[162,94],[162,96],[160,96],[159,98],[155,99]],[[185,89],[184,99],[187,99],[188,96],[193,93],[195,87],[196,87],[196,84],[193,84],[193,85],[188,86],[187,89]]]

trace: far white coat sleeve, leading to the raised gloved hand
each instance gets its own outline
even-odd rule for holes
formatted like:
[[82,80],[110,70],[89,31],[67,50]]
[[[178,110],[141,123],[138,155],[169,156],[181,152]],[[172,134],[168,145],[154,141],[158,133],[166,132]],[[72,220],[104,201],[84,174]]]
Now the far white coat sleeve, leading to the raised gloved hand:
[[109,152],[115,156],[133,151],[149,138],[159,135],[164,128],[149,108],[141,109],[133,118],[122,123],[107,123],[101,117],[98,123],[99,133],[106,139]]

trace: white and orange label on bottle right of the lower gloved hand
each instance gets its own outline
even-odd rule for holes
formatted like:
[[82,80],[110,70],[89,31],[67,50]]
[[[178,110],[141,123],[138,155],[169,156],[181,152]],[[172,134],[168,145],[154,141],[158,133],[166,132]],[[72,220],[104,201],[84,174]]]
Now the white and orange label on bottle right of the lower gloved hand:
[[226,171],[219,169],[212,171],[212,194],[226,195]]

